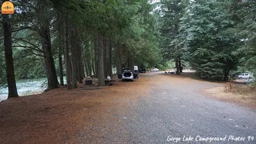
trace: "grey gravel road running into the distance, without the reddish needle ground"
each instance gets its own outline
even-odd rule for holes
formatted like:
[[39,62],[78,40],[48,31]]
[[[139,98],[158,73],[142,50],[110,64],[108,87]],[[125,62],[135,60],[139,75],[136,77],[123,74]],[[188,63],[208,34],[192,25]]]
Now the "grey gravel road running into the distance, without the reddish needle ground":
[[125,116],[119,116],[121,122],[106,123],[106,131],[93,131],[97,138],[83,131],[84,143],[256,143],[255,109],[218,101],[202,92],[221,83],[163,72],[141,73],[140,77],[150,79],[151,90],[135,102],[127,101],[129,108]]

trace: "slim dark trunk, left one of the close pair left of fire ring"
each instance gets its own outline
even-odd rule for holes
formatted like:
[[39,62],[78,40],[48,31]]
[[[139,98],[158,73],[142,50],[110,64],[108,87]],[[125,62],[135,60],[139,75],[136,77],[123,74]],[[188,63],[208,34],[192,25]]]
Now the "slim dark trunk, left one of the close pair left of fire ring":
[[66,85],[67,89],[72,89],[72,75],[71,75],[71,63],[69,58],[69,43],[68,43],[68,15],[65,15],[65,35],[64,35],[64,59],[65,59],[65,71],[66,71]]

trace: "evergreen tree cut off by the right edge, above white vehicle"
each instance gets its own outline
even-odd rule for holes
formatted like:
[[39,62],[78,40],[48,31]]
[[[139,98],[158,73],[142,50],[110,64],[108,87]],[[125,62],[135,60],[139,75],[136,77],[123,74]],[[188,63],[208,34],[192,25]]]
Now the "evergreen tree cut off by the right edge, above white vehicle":
[[234,19],[235,27],[232,29],[242,44],[236,53],[241,54],[240,70],[256,72],[256,1],[255,0],[229,0],[229,13]]

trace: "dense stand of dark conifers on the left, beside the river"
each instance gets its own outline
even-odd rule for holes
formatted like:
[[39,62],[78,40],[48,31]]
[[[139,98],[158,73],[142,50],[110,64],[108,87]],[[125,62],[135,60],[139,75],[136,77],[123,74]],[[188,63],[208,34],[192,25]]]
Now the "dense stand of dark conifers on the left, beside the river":
[[[0,43],[7,43],[13,55],[7,54],[5,58],[13,57],[13,61],[1,61],[1,85],[9,81],[8,75],[13,79],[8,87],[14,87],[11,85],[15,78],[47,76],[50,90],[63,85],[66,76],[66,87],[72,89],[84,76],[95,75],[98,85],[103,86],[104,78],[114,71],[120,72],[122,66],[158,64],[156,16],[151,13],[153,4],[147,0],[12,2],[15,13],[9,15],[7,26],[11,28],[5,31],[9,38],[0,35]],[[4,17],[0,17],[3,25]],[[5,44],[0,45],[0,49],[3,47]],[[157,58],[153,59],[154,56]],[[11,65],[12,71],[8,70]]]

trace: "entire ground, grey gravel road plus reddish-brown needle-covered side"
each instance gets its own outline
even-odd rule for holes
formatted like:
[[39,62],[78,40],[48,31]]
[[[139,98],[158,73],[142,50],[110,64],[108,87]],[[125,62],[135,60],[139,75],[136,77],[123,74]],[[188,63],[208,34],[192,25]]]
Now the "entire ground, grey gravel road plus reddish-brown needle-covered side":
[[205,90],[223,83],[182,75],[9,98],[0,102],[0,143],[256,143],[256,109]]

